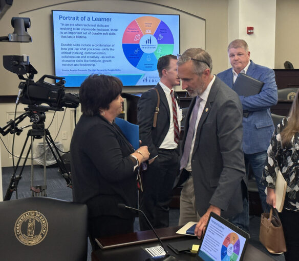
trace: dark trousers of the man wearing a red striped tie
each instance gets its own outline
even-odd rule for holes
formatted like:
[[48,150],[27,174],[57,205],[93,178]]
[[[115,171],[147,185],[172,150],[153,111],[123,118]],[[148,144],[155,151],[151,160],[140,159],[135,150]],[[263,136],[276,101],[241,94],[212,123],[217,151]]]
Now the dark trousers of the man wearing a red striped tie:
[[[158,150],[158,157],[142,173],[143,192],[139,191],[139,209],[154,228],[169,226],[169,203],[178,171],[177,150]],[[139,213],[140,230],[151,229]]]

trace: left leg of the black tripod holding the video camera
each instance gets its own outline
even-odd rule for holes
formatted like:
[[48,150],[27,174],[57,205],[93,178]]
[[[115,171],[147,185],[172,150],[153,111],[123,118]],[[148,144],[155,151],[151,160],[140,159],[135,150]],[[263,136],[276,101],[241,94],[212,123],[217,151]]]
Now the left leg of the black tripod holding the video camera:
[[26,154],[26,158],[25,158],[25,160],[24,160],[22,169],[21,169],[20,173],[18,174],[18,176],[16,176],[16,172],[17,172],[17,169],[18,169],[20,160],[21,160],[21,158],[22,158],[23,152],[24,152],[24,150],[25,150],[26,144],[27,144],[27,142],[28,142],[28,138],[29,138],[29,136],[30,136],[30,133],[31,133],[31,132],[30,132],[30,130],[29,130],[28,133],[27,133],[27,137],[26,137],[26,139],[25,139],[25,143],[24,143],[24,145],[23,145],[22,151],[21,151],[20,156],[19,156],[19,158],[18,158],[18,161],[17,161],[16,167],[15,167],[15,170],[14,170],[14,172],[13,172],[13,174],[12,174],[11,179],[10,179],[10,183],[9,183],[8,188],[7,188],[6,194],[5,194],[5,196],[4,196],[4,199],[3,199],[4,201],[5,201],[5,200],[10,200],[12,193],[13,193],[14,191],[17,190],[17,185],[18,185],[18,183],[19,183],[19,180],[22,178],[22,173],[23,173],[25,164],[26,164],[26,162],[27,162],[27,158],[28,158],[29,152],[30,152],[30,150],[31,150],[31,145],[30,145],[30,147],[29,147],[29,149],[28,149],[28,152],[27,152],[27,154]]

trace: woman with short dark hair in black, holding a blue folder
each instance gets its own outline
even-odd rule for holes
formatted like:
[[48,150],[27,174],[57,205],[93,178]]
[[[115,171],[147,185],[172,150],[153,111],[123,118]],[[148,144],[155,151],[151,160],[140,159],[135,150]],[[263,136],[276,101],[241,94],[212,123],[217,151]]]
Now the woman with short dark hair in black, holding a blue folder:
[[87,204],[89,233],[94,239],[133,232],[137,208],[137,170],[148,159],[147,146],[137,151],[114,123],[122,110],[121,81],[90,75],[80,87],[82,115],[71,141],[74,202]]

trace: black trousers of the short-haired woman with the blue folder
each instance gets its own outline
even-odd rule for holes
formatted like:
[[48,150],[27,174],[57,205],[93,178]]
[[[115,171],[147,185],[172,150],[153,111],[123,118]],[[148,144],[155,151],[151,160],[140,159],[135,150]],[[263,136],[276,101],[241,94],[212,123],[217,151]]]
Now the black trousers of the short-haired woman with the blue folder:
[[89,239],[93,250],[99,248],[95,238],[134,232],[135,217],[97,216],[88,219]]

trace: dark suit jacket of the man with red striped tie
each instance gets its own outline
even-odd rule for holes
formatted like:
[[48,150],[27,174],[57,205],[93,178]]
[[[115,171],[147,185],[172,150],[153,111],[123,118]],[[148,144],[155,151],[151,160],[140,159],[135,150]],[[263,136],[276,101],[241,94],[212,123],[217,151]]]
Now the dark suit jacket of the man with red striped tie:
[[[158,95],[154,89],[144,92],[137,105],[137,121],[139,125],[139,138],[142,145],[148,147],[151,156],[150,159],[157,155],[157,149],[162,144],[170,122],[170,111],[166,95],[162,87],[157,84],[155,88],[160,95],[159,113],[157,117],[157,126],[153,127],[154,113],[158,102]],[[178,102],[178,96],[175,92]],[[179,104],[179,103],[178,103]]]

